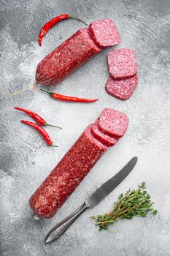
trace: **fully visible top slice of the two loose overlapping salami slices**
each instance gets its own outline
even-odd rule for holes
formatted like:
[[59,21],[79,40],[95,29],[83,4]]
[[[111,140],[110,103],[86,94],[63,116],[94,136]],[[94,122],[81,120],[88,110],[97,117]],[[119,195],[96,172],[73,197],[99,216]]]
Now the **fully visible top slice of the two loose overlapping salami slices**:
[[113,79],[131,78],[137,72],[136,54],[128,48],[112,50],[108,54],[108,65]]

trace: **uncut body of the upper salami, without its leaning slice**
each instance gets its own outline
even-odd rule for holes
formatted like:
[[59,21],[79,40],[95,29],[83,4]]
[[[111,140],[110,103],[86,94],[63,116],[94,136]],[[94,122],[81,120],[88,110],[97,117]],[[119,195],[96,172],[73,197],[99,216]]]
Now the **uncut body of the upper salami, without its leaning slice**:
[[42,59],[36,68],[36,83],[54,86],[100,51],[88,29],[80,29]]

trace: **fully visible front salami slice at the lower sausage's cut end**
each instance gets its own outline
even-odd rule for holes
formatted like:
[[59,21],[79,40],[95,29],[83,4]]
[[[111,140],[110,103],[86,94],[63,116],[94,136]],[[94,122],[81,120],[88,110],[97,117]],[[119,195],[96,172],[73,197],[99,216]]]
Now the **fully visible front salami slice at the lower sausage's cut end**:
[[121,138],[128,128],[128,116],[112,108],[105,108],[99,117],[98,128],[106,135]]

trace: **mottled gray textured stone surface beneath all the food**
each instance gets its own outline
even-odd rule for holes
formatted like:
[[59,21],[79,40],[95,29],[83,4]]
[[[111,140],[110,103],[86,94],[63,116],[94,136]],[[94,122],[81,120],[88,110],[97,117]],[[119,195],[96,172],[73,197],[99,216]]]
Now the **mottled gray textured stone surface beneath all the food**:
[[[94,104],[56,102],[39,91],[1,99],[0,255],[170,255],[170,1],[1,0],[1,91],[12,92],[34,83],[39,61],[82,27],[73,20],[60,23],[51,29],[40,48],[39,29],[63,12],[87,23],[99,18],[115,20],[122,36],[117,47],[133,48],[138,56],[139,86],[125,102],[105,92],[110,50],[106,49],[54,89],[63,94],[99,97]],[[61,125],[62,130],[47,128],[60,147],[47,147],[34,130],[20,124],[21,118],[30,118],[13,110],[16,105]],[[28,206],[31,193],[105,107],[128,114],[127,134],[109,148],[53,219],[34,220]],[[61,239],[45,245],[47,231],[134,155],[139,162],[133,173],[100,205],[77,219]],[[89,216],[109,211],[120,192],[141,181],[147,182],[158,216],[117,222],[111,230],[98,233]]]

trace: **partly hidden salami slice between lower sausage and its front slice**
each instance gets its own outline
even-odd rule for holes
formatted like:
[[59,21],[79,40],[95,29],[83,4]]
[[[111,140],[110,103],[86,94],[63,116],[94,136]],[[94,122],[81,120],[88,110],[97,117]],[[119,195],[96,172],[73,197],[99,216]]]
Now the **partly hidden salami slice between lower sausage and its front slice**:
[[108,135],[105,135],[103,132],[101,132],[98,129],[98,121],[96,121],[95,124],[92,124],[91,133],[94,136],[94,138],[101,141],[101,143],[103,143],[104,145],[106,145],[108,147],[114,146],[115,143],[117,143],[117,140],[118,140],[118,139],[112,138]]

